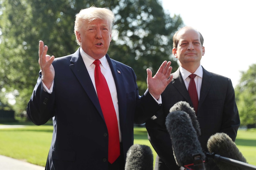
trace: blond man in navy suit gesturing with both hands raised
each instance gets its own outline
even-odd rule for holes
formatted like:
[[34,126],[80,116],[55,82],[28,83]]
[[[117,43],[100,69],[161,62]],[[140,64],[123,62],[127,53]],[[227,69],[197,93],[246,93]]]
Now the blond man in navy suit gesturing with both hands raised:
[[140,97],[133,69],[107,54],[113,20],[107,8],[81,10],[74,29],[80,48],[68,56],[55,59],[39,42],[41,70],[27,114],[37,125],[53,118],[46,170],[124,169],[133,124],[161,107],[172,78],[170,61],[154,77],[147,69],[148,90]]

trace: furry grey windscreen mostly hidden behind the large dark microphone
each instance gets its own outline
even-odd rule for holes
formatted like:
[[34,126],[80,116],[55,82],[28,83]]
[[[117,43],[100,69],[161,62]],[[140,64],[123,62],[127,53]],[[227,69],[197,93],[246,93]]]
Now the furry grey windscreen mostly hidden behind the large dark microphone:
[[199,122],[197,121],[195,110],[189,105],[189,103],[187,103],[186,101],[179,101],[170,108],[169,112],[176,111],[176,110],[184,111],[187,114],[189,114],[190,119],[192,120],[192,125],[195,128],[195,131],[197,133],[197,136],[200,136],[201,129],[199,126]]

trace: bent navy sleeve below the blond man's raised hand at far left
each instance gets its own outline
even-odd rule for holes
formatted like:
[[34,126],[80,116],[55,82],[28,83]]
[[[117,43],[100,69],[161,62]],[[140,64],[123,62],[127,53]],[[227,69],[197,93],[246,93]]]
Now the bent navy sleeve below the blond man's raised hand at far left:
[[36,125],[45,124],[54,116],[54,90],[52,94],[43,90],[42,72],[39,72],[37,84],[27,106],[27,114]]

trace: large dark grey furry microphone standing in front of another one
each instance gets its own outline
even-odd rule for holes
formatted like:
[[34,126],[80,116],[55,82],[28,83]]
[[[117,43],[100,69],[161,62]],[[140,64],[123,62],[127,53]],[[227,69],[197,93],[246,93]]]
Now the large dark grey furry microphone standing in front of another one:
[[172,111],[167,115],[165,125],[172,140],[177,165],[204,170],[205,154],[189,114],[180,110]]

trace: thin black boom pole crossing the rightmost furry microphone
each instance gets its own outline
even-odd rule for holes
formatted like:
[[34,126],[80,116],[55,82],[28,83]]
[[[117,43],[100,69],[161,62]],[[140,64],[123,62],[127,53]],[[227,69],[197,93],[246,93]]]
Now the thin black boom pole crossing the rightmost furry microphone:
[[237,161],[235,159],[220,156],[220,155],[215,154],[215,153],[207,153],[206,152],[205,155],[206,155],[206,157],[213,158],[214,160],[217,160],[217,161],[222,161],[222,162],[225,162],[225,163],[229,163],[231,165],[235,165],[235,166],[245,168],[245,169],[248,169],[248,170],[256,170],[256,166],[254,166],[254,165],[250,165],[248,163]]

